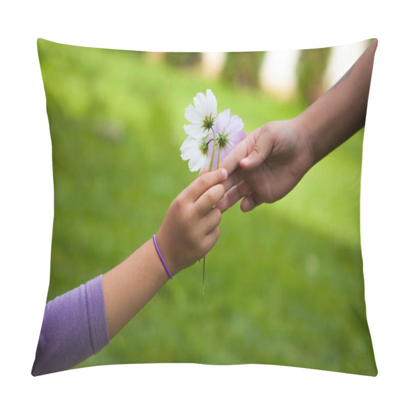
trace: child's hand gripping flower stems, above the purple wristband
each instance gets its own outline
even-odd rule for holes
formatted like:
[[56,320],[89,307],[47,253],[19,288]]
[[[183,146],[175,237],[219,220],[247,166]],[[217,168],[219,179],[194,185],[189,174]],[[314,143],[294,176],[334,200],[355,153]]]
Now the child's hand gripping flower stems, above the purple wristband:
[[224,196],[227,176],[225,169],[204,173],[172,201],[156,235],[172,275],[203,258],[219,238],[221,212],[214,205]]

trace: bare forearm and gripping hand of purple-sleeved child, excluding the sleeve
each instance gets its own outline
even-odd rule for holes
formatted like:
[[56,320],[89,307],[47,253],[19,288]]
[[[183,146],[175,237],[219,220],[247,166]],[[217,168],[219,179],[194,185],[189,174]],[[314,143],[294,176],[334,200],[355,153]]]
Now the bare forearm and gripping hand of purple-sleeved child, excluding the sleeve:
[[[224,169],[203,174],[172,202],[156,241],[172,275],[205,256],[219,237],[221,213],[213,208],[224,195]],[[102,277],[106,321],[112,339],[169,276],[150,239]]]

